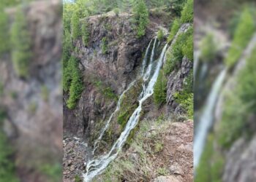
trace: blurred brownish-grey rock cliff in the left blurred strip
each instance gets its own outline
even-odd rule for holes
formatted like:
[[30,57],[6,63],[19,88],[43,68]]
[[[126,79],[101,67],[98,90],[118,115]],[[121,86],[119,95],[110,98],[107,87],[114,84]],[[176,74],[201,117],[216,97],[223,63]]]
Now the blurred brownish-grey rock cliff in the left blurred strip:
[[[11,22],[16,10],[7,9]],[[10,54],[0,58],[0,81],[4,83],[0,108],[7,113],[4,130],[15,146],[21,181],[48,181],[39,174],[40,165],[61,159],[60,12],[60,1],[37,1],[24,9],[33,55],[28,79],[15,74]]]

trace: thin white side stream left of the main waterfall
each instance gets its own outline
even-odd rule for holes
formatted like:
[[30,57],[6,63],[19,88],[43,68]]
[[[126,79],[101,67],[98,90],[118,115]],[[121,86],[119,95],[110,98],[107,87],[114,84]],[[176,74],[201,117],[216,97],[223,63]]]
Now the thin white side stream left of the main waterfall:
[[110,125],[111,119],[113,118],[113,116],[117,113],[117,111],[119,111],[120,109],[120,105],[121,105],[121,100],[124,97],[124,94],[133,86],[133,84],[135,84],[137,80],[135,79],[135,81],[131,82],[127,89],[124,90],[124,92],[122,92],[122,94],[120,95],[119,99],[118,99],[118,103],[116,105],[116,110],[113,111],[113,113],[110,115],[108,122],[105,124],[105,127],[103,128],[102,132],[99,135],[99,138],[97,138],[97,140],[94,142],[94,150],[92,151],[92,154],[94,155],[94,152],[97,150],[98,146],[99,146],[99,141],[101,141],[103,135],[105,134],[105,131],[108,130],[108,127]]

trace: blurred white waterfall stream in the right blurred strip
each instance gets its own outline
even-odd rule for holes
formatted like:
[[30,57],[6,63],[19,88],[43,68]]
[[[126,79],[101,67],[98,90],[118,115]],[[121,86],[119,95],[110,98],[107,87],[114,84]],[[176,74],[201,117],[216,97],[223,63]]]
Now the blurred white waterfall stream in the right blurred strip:
[[198,127],[195,131],[195,140],[194,140],[194,167],[196,168],[198,162],[200,161],[200,156],[203,152],[204,145],[206,143],[206,138],[208,130],[212,126],[214,121],[214,106],[217,102],[219,90],[224,82],[225,75],[227,70],[222,70],[217,79],[214,81],[214,84],[211,87],[211,92],[208,95],[206,103],[204,104],[203,113],[199,117]]

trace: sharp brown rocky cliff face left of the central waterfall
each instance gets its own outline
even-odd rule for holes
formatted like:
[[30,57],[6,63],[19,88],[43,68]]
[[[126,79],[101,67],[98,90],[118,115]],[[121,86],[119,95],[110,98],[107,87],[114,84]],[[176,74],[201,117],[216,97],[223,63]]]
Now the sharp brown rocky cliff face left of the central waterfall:
[[[146,36],[138,39],[135,25],[129,14],[96,15],[80,20],[89,24],[89,44],[84,46],[81,40],[76,41],[74,54],[80,59],[80,70],[83,72],[85,90],[78,106],[69,110],[64,106],[64,130],[78,136],[95,135],[100,130],[100,121],[105,120],[116,106],[115,99],[104,95],[104,87],[110,87],[115,95],[120,95],[127,85],[134,80],[142,63],[143,51],[156,36],[159,23],[152,21],[146,29]],[[105,44],[106,51],[102,50]],[[102,82],[102,87],[97,83]],[[67,95],[64,96],[64,100]],[[97,128],[97,130],[96,130]]]

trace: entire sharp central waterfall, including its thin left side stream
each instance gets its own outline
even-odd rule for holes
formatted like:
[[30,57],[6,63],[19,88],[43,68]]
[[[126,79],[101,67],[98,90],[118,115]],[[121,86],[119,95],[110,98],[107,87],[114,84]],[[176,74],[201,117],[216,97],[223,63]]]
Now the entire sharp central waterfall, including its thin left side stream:
[[[148,63],[147,68],[146,68],[146,63],[148,58],[149,47],[151,47],[150,46],[151,42],[148,45],[148,48],[146,50],[146,55],[143,60],[143,68],[140,76],[143,77],[144,82],[143,82],[143,90],[142,92],[140,92],[140,96],[138,97],[138,102],[139,102],[138,108],[136,108],[135,111],[132,113],[132,115],[129,117],[126,127],[124,128],[123,132],[121,132],[121,135],[119,136],[117,141],[113,144],[108,154],[102,155],[97,159],[91,159],[88,162],[88,164],[86,165],[86,173],[83,174],[83,178],[85,182],[91,181],[91,179],[94,178],[96,175],[99,175],[100,173],[102,173],[102,171],[105,170],[106,167],[108,167],[110,162],[112,162],[113,159],[116,158],[116,156],[118,155],[118,152],[121,151],[122,146],[124,146],[124,143],[126,143],[129,133],[138,124],[143,102],[154,93],[154,84],[157,82],[157,77],[162,67],[162,63],[165,59],[165,51],[167,49],[167,44],[165,44],[165,47],[162,49],[159,59],[154,59],[156,42],[157,42],[157,38],[154,39],[154,46],[151,51],[151,57],[150,57],[150,61]],[[151,72],[153,73],[151,74]],[[129,90],[129,88],[132,87],[133,84],[134,83],[132,82],[132,84],[130,84],[129,87],[127,87],[127,90]],[[127,90],[125,90],[122,93],[122,95],[124,95],[124,93],[127,92]],[[118,111],[118,109],[120,108],[122,95],[118,100],[116,111]],[[94,151],[97,149],[97,146],[99,145],[99,141],[102,139],[102,136],[104,135],[105,130],[107,130],[107,128],[109,127],[110,120],[112,119],[116,111],[114,111],[113,114],[110,115],[110,118],[108,119],[108,122],[105,125],[105,128],[102,130],[102,133],[99,135],[99,138],[94,143],[94,148],[95,148]]]

